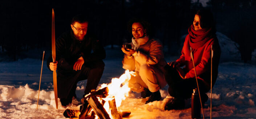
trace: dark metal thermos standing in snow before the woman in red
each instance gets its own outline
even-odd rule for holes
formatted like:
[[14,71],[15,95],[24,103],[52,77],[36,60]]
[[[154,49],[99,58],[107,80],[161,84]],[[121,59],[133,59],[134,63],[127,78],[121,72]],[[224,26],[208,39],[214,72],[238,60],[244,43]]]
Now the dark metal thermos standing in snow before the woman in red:
[[191,118],[200,119],[201,118],[201,106],[200,98],[197,89],[193,89],[191,96]]

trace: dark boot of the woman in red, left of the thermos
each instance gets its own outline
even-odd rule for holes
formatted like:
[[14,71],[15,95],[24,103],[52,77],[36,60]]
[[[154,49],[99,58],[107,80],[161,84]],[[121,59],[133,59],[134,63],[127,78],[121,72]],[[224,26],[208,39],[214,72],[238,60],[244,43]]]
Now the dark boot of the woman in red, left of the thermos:
[[185,108],[185,100],[181,98],[172,98],[164,106],[164,110],[181,110]]

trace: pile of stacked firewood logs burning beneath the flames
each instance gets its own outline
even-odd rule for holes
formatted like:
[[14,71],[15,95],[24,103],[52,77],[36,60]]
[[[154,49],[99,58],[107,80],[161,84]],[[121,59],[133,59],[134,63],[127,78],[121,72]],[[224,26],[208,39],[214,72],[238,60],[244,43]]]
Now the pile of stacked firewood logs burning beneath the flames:
[[[115,98],[106,102],[102,98],[106,98],[108,95],[109,89],[107,87],[99,89],[97,91],[92,91],[88,95],[85,95],[81,99],[82,106],[80,110],[69,110],[66,109],[64,116],[66,118],[77,118],[77,119],[94,119],[97,115],[99,119],[122,119],[131,114],[130,111],[120,112],[117,110],[115,103]],[[107,113],[106,109],[103,107],[105,103],[109,103],[110,113]]]

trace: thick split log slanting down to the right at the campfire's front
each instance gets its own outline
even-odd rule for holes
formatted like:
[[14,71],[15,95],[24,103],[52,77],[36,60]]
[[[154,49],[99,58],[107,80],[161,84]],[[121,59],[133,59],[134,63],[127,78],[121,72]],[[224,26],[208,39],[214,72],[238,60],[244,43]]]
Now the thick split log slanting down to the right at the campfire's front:
[[99,119],[110,119],[109,114],[107,114],[105,108],[98,101],[97,97],[90,96],[88,103],[92,107],[93,111],[98,115]]

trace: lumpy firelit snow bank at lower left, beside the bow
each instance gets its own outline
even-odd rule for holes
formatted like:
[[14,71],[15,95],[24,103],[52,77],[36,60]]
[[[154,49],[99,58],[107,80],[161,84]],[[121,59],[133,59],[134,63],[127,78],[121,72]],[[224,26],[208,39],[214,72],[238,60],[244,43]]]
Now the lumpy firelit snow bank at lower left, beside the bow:
[[[53,91],[40,91],[37,107],[38,90],[29,88],[28,84],[15,88],[9,85],[0,85],[0,118],[1,119],[65,119],[58,99],[58,110],[55,106]],[[74,103],[78,101],[73,100]],[[68,105],[69,109],[79,110],[79,106]]]

